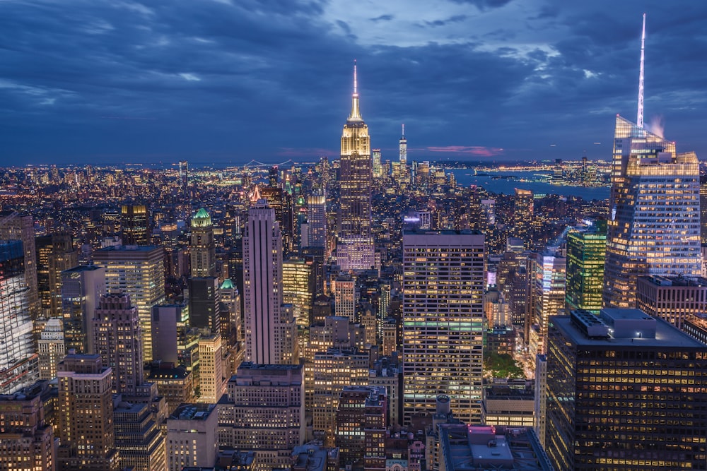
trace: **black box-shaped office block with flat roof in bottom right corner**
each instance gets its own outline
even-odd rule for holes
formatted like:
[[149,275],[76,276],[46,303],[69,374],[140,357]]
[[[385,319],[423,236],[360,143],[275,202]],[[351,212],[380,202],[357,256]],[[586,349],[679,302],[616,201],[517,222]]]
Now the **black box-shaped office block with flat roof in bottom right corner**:
[[705,467],[706,345],[639,309],[550,324],[545,445],[556,469]]

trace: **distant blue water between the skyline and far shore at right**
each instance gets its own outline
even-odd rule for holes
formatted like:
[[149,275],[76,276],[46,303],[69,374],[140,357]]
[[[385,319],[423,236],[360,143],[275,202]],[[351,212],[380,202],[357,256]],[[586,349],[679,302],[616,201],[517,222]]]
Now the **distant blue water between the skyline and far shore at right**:
[[[580,196],[585,200],[609,198],[609,186],[553,185],[544,181],[537,181],[542,179],[539,175],[549,175],[547,172],[484,172],[487,175],[474,175],[474,169],[449,169],[447,172],[454,174],[457,178],[457,184],[461,186],[477,185],[487,191],[493,191],[493,193],[512,195],[515,193],[515,189],[519,188],[532,190],[533,193],[545,193],[548,195]],[[493,177],[510,178],[494,179]]]

